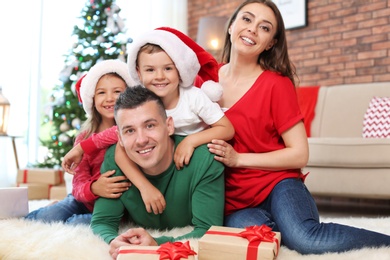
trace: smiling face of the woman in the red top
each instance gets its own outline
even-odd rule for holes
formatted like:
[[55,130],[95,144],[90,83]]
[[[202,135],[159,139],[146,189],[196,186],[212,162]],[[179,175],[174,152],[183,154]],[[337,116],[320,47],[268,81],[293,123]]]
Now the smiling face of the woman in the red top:
[[244,6],[229,27],[232,48],[258,56],[276,43],[277,22],[271,8],[252,3]]

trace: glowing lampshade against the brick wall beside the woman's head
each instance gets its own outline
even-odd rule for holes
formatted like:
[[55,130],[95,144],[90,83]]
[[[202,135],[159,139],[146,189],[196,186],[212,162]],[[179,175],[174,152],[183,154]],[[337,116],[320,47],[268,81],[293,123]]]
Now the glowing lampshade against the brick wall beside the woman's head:
[[228,17],[225,16],[208,16],[199,19],[197,43],[214,57],[222,50],[227,20]]

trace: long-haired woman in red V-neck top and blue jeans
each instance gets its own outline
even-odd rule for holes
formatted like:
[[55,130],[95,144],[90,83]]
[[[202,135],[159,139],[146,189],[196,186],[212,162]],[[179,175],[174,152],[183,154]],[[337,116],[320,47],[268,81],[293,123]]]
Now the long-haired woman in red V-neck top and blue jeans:
[[[301,254],[389,246],[390,236],[320,223],[301,168],[309,156],[282,16],[271,0],[243,2],[228,22],[220,105],[235,126],[231,142],[209,144],[224,163],[225,225],[266,224]],[[310,178],[310,176],[308,177]]]

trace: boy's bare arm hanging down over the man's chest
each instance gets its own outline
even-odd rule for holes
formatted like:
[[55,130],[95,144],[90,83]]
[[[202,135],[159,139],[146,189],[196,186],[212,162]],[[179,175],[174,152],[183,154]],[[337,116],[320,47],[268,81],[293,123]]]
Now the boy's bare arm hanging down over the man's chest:
[[154,214],[161,214],[166,206],[162,193],[154,187],[145,175],[140,171],[138,166],[130,160],[125,149],[121,145],[115,148],[115,162],[126,175],[127,178],[135,185],[141,193],[146,211]]

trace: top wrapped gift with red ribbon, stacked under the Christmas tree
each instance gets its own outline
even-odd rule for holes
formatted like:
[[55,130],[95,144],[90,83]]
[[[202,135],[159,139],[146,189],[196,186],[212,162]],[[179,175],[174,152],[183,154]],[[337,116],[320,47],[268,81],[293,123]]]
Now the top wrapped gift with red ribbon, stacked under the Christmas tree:
[[64,171],[48,168],[20,169],[16,176],[16,182],[58,185],[64,183]]

